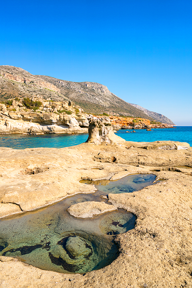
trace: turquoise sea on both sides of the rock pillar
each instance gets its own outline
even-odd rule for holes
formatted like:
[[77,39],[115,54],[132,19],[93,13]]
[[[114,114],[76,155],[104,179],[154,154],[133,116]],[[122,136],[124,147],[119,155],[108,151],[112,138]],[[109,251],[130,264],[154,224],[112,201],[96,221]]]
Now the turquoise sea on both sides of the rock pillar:
[[[126,141],[153,142],[158,140],[171,140],[187,142],[192,146],[192,126],[176,126],[166,129],[135,130],[136,133],[126,133],[132,130],[119,130],[116,135]],[[69,147],[85,142],[88,133],[79,134],[43,134],[43,135],[22,135],[22,134],[0,134],[0,147],[14,149],[25,149],[34,147]]]

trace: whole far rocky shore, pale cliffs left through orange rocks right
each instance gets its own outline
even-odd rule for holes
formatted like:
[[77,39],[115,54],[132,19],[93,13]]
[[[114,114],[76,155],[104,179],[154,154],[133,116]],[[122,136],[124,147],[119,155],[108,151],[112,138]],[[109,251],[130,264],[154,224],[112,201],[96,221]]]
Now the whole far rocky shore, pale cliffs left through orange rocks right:
[[[39,106],[34,106],[33,109],[27,108],[22,104],[23,98],[9,100],[10,105],[0,103],[0,134],[88,132],[88,120],[93,115],[84,113],[83,109],[72,101],[55,102],[50,99],[45,101],[37,96],[30,101],[31,105],[39,103]],[[171,124],[151,124],[150,120],[143,118],[109,116],[109,121],[114,130],[147,129],[150,131],[151,128],[173,128]]]

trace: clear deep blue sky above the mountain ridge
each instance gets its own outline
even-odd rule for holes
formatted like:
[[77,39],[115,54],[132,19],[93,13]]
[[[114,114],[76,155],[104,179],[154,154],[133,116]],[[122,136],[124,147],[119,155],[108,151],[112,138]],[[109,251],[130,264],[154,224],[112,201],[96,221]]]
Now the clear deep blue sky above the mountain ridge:
[[0,65],[98,82],[192,126],[192,1],[1,1]]

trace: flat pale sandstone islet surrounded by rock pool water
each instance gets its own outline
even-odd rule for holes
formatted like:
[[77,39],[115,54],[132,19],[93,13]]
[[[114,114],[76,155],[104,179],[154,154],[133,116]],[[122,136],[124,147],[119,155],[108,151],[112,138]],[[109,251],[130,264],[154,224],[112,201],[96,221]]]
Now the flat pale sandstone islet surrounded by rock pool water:
[[106,204],[105,202],[83,202],[71,205],[67,211],[74,217],[92,218],[93,215],[102,214],[108,211],[117,210],[116,206]]

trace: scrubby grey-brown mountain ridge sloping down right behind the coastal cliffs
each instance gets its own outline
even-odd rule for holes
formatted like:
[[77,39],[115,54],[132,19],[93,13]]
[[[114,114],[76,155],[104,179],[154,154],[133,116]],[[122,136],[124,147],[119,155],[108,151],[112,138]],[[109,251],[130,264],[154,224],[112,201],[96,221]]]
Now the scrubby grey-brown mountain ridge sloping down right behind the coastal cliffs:
[[[92,114],[107,113],[151,121],[159,121],[157,115],[161,115],[128,103],[111,93],[106,86],[95,82],[71,82],[45,75],[33,75],[22,68],[8,65],[0,66],[0,75],[1,101],[14,97],[41,96],[54,101],[72,100],[86,113]],[[173,123],[166,116],[161,116],[166,120],[164,123]]]

